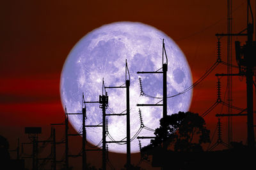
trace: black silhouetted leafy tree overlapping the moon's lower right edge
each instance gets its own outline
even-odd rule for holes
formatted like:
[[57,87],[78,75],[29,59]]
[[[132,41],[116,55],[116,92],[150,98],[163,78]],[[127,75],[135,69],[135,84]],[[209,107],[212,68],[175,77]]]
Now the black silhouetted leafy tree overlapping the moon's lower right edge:
[[161,118],[160,127],[156,129],[155,139],[142,148],[147,155],[154,150],[173,150],[175,152],[203,151],[202,143],[209,143],[210,131],[205,127],[204,118],[197,113],[179,112]]

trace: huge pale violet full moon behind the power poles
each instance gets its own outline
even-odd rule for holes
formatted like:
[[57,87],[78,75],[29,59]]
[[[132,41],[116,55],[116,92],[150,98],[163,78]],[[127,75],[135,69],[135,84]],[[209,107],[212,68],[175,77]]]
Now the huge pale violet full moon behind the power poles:
[[[186,57],[179,46],[164,32],[140,22],[115,22],[102,25],[81,38],[72,48],[61,73],[60,94],[63,108],[68,113],[82,113],[82,95],[85,101],[99,101],[104,85],[125,86],[125,59],[131,75],[130,85],[130,124],[131,153],[140,152],[138,136],[154,136],[163,117],[162,106],[143,106],[136,104],[161,104],[163,97],[163,74],[137,74],[138,71],[162,71],[163,39],[168,57],[167,96],[179,94],[192,84],[191,71]],[[139,78],[143,92],[141,96]],[[107,114],[125,113],[126,90],[106,89],[109,96]],[[168,115],[188,111],[192,90],[167,99]],[[102,110],[99,103],[86,103],[86,125],[102,125]],[[126,116],[108,116],[107,141],[126,139]],[[82,116],[69,115],[68,119],[77,132],[81,132]],[[102,147],[102,127],[86,127],[87,141]],[[134,137],[134,138],[132,138]],[[141,139],[141,145],[150,139]],[[125,143],[108,143],[110,152],[126,153]]]

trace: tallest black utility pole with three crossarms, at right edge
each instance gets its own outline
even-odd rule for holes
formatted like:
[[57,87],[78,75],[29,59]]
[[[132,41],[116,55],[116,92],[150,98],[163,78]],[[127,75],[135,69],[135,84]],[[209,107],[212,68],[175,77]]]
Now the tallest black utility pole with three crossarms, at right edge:
[[[249,18],[252,18],[252,23],[249,22]],[[238,34],[216,34],[216,36],[247,36],[247,41],[244,46],[241,46],[240,41],[236,41],[236,60],[239,66],[239,73],[233,74],[216,74],[216,76],[246,76],[246,98],[247,98],[247,140],[248,147],[255,148],[255,136],[253,125],[253,69],[256,67],[256,63],[253,60],[255,58],[256,45],[253,41],[253,14],[250,5],[250,0],[247,1],[247,25],[246,29]],[[243,33],[247,31],[246,33]],[[232,106],[232,105],[231,105]],[[237,114],[221,114],[221,116],[237,116]],[[242,114],[239,114],[242,116]]]

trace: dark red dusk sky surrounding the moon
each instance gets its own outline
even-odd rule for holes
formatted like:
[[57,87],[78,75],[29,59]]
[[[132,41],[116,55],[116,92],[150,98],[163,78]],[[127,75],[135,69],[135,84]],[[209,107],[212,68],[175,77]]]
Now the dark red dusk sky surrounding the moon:
[[[255,13],[255,1],[252,8]],[[240,32],[246,28],[246,1],[233,1],[233,10],[233,31]],[[227,1],[2,2],[0,134],[8,138],[11,148],[15,148],[17,138],[21,142],[28,141],[24,127],[43,127],[42,138],[47,138],[49,125],[63,122],[59,86],[61,69],[68,53],[86,33],[117,21],[143,22],[168,34],[186,55],[193,81],[196,81],[216,61],[215,34],[227,32]],[[227,38],[221,38],[221,43],[222,59],[227,62]],[[233,61],[236,64],[234,52]],[[218,66],[193,89],[190,111],[202,114],[216,101],[217,78],[214,74],[226,72],[227,67]],[[234,69],[234,73],[237,73],[237,69]],[[226,79],[221,78],[223,99]],[[236,77],[233,82],[234,106],[246,108],[245,78]],[[217,106],[205,117],[211,136],[217,123],[215,114],[221,113],[221,110],[227,113],[225,106]],[[223,139],[226,140],[227,118],[221,118],[221,122]],[[234,118],[233,125],[234,141],[245,143],[246,118]],[[74,140],[80,142],[79,137]],[[71,147],[75,150],[78,146],[74,144]],[[92,155],[97,157],[96,153]],[[122,156],[113,154],[113,162]],[[92,164],[97,162],[93,159],[90,161]],[[147,164],[144,166],[147,167]]]

